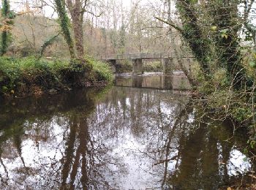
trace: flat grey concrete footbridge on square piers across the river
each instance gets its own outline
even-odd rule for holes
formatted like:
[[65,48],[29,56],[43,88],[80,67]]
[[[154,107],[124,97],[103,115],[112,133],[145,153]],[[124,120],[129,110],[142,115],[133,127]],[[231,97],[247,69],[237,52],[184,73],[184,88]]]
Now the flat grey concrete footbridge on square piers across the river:
[[[182,58],[192,58],[183,56]],[[132,60],[132,74],[143,74],[143,59],[160,59],[162,61],[164,75],[173,75],[175,57],[170,53],[135,53],[135,54],[113,54],[103,55],[98,57],[99,60],[107,61],[113,67],[113,72],[116,72],[116,61]]]

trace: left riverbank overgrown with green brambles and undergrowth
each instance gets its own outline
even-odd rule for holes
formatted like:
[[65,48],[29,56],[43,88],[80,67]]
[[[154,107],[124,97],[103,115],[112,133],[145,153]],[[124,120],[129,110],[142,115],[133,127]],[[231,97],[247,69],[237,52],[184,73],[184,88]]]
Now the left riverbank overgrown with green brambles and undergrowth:
[[0,96],[4,98],[57,94],[72,88],[107,86],[113,81],[108,64],[91,58],[69,62],[1,57],[0,63]]

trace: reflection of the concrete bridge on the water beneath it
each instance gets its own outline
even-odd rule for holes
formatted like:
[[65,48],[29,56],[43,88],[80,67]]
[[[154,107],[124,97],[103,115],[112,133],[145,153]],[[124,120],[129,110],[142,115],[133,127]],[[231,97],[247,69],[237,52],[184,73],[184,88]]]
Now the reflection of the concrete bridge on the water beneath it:
[[191,86],[184,75],[127,75],[116,77],[116,86],[153,88],[167,90],[189,90]]

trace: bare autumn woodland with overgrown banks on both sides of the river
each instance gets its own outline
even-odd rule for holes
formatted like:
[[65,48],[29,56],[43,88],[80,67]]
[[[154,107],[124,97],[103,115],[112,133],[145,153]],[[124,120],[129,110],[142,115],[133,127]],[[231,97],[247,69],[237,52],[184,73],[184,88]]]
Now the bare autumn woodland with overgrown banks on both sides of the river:
[[255,0],[2,0],[0,96],[108,86],[114,76],[100,56],[170,53],[192,86],[189,106],[245,129],[255,160],[255,10]]

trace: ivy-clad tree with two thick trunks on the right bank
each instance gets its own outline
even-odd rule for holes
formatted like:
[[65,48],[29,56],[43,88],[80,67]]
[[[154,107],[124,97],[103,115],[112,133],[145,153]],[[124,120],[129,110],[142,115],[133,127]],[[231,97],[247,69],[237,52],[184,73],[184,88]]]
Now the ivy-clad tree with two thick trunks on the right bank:
[[170,17],[166,21],[158,18],[181,33],[206,80],[211,81],[213,68],[220,67],[226,70],[227,80],[234,88],[241,88],[246,81],[239,48],[239,31],[243,27],[238,9],[240,2],[177,0],[181,26]]

